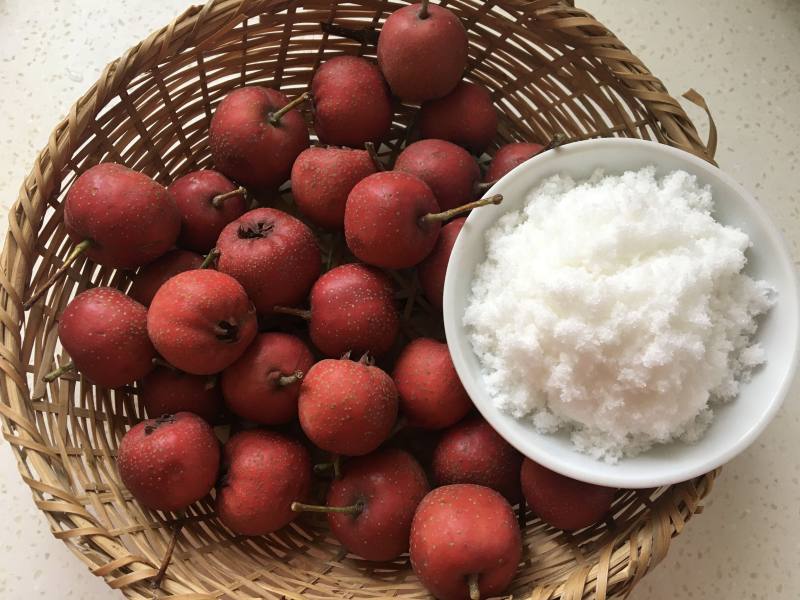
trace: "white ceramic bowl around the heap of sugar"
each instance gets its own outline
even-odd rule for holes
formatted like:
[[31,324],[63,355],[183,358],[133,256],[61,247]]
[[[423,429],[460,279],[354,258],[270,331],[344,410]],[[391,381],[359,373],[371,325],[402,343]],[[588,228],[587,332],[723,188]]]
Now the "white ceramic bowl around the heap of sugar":
[[[742,385],[739,396],[714,409],[715,418],[694,444],[660,445],[617,464],[576,451],[568,434],[538,433],[492,404],[483,385],[478,359],[467,339],[462,316],[475,266],[486,255],[484,234],[497,218],[524,204],[526,194],[557,173],[585,179],[595,169],[621,173],[655,165],[657,175],[676,169],[711,186],[715,218],[745,231],[753,242],[746,272],[770,282],[777,303],[760,322],[756,339],[767,362]],[[685,481],[719,467],[744,450],[775,416],[794,376],[798,361],[798,284],[787,247],[758,202],[728,175],[675,148],[643,140],[610,138],[569,144],[535,157],[503,177],[488,194],[503,194],[503,203],[472,212],[458,236],[444,286],[444,325],[458,375],[489,423],[525,456],[558,473],[601,485],[647,488]]]

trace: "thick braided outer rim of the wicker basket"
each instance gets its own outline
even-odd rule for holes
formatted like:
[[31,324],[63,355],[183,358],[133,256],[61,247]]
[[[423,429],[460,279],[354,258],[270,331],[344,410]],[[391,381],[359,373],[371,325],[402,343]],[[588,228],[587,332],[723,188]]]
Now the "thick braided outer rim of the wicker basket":
[[[9,211],[9,232],[2,251],[0,273],[0,327],[3,332],[0,419],[4,436],[12,446],[23,480],[31,488],[39,509],[47,514],[54,533],[65,542],[69,536],[59,535],[59,531],[81,536],[86,541],[82,550],[86,556],[90,553],[102,555],[99,560],[95,557],[81,558],[90,565],[102,563],[93,568],[93,573],[105,577],[115,588],[125,589],[128,585],[147,580],[155,574],[155,565],[142,556],[131,555],[81,502],[68,490],[59,487],[59,471],[65,468],[61,456],[48,447],[35,419],[30,416],[29,368],[20,358],[25,323],[22,301],[31,288],[38,228],[50,207],[51,197],[57,191],[60,175],[70,166],[72,153],[79,147],[87,129],[105,105],[134,77],[187,48],[201,51],[211,47],[215,40],[243,21],[268,10],[281,10],[289,4],[275,0],[210,0],[202,6],[191,6],[171,23],[110,62],[98,80],[72,105],[67,117],[53,129]],[[549,14],[552,23],[575,39],[599,35],[613,37],[588,13],[558,0],[508,0],[506,4],[539,10],[542,15]],[[602,33],[598,34],[598,31]],[[626,85],[633,86],[634,95],[656,116],[670,143],[713,162],[717,137],[713,120],[710,122],[709,140],[703,143],[680,104],[666,92],[660,81],[649,76],[641,61],[621,43],[616,46],[609,43],[599,48],[606,46],[607,50],[601,50],[598,55]],[[708,112],[705,101],[694,90],[689,90],[685,97]],[[42,311],[42,307],[37,306],[31,314],[43,318]],[[671,537],[680,533],[693,514],[702,511],[701,501],[710,492],[717,474],[715,471],[674,486],[674,502],[665,501],[652,507],[652,518],[636,531],[625,532],[630,536],[630,544],[614,550],[615,556],[610,550],[602,563],[576,573],[574,578],[556,589],[538,590],[532,598],[582,598],[585,589],[589,589],[589,581],[594,582],[592,589],[598,598],[604,598],[605,590],[622,580],[630,582],[632,587],[666,555]],[[626,567],[609,572],[609,565],[620,561]],[[120,570],[126,574],[113,575]],[[216,597],[196,593],[192,587],[172,579],[169,574],[166,582],[164,589],[175,600]]]

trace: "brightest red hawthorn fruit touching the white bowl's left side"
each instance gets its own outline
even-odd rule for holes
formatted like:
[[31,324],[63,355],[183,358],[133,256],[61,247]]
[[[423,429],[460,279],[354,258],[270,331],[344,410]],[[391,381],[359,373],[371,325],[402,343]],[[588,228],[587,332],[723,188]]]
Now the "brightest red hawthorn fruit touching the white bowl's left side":
[[409,425],[443,429],[472,409],[447,344],[442,342],[430,338],[411,341],[397,358],[392,379]]

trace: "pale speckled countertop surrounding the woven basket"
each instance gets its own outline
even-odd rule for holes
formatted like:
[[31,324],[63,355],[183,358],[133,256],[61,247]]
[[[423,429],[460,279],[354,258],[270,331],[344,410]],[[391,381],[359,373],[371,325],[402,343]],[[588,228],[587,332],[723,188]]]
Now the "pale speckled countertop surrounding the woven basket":
[[[0,190],[11,205],[35,153],[102,67],[186,0],[0,0]],[[578,0],[674,96],[703,93],[717,159],[753,191],[800,259],[800,2]],[[703,113],[688,108],[705,128]],[[800,597],[800,384],[763,436],[728,465],[706,511],[634,600]],[[0,598],[120,598],[93,577],[31,501],[0,445]]]

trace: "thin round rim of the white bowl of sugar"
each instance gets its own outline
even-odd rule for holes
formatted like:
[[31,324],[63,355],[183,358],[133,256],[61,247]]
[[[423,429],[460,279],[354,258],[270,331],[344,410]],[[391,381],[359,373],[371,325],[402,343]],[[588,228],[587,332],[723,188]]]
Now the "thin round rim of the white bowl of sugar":
[[[499,193],[509,181],[516,179],[522,173],[525,173],[530,169],[536,168],[537,165],[543,161],[557,160],[559,156],[564,156],[565,153],[571,153],[574,151],[584,152],[587,149],[593,152],[613,152],[621,145],[630,146],[633,148],[641,148],[646,146],[648,149],[656,149],[657,151],[663,152],[666,155],[672,155],[673,157],[686,162],[687,167],[690,166],[696,170],[702,171],[708,176],[709,179],[716,179],[720,184],[727,185],[733,189],[746,205],[750,214],[749,218],[754,222],[758,222],[760,226],[763,227],[772,243],[779,249],[778,256],[773,256],[772,258],[779,263],[778,268],[781,271],[785,271],[787,275],[790,275],[786,277],[786,285],[785,289],[783,289],[781,292],[781,298],[784,302],[790,302],[792,304],[796,316],[795,331],[791,332],[791,357],[788,363],[789,368],[784,372],[780,383],[775,386],[775,393],[772,394],[769,403],[760,413],[758,419],[756,419],[741,435],[731,438],[730,443],[727,444],[723,450],[715,452],[705,461],[692,461],[683,468],[673,469],[667,477],[659,477],[657,473],[654,475],[641,476],[631,475],[630,473],[624,475],[623,471],[620,471],[614,475],[605,475],[600,471],[587,471],[583,468],[577,468],[569,460],[568,455],[565,455],[567,456],[566,459],[564,456],[556,457],[551,452],[542,451],[537,447],[532,447],[531,445],[525,445],[520,440],[515,439],[514,436],[509,435],[506,431],[506,428],[501,421],[499,411],[487,410],[486,405],[489,404],[488,399],[486,399],[485,402],[475,402],[473,400],[473,404],[476,406],[483,418],[486,419],[495,430],[497,430],[501,437],[519,450],[524,456],[527,456],[535,462],[557,473],[580,481],[618,488],[642,489],[660,487],[687,481],[721,467],[723,464],[727,463],[735,456],[743,452],[748,446],[750,446],[772,421],[782,406],[786,396],[788,395],[789,388],[794,382],[798,370],[798,353],[800,352],[800,349],[798,348],[800,346],[800,280],[798,279],[797,269],[794,266],[794,262],[786,240],[784,239],[778,227],[768,216],[766,210],[759,204],[752,194],[750,194],[742,185],[736,182],[730,175],[722,171],[714,164],[707,162],[706,160],[703,160],[694,154],[659,142],[637,138],[594,138],[570,143],[557,148],[555,152],[544,152],[521,163],[497,182],[495,182],[495,184],[485,193],[485,195],[489,196]],[[469,224],[470,222],[475,223],[479,219],[481,221],[496,220],[502,214],[505,213],[500,207],[482,207],[473,210],[472,213],[467,217],[465,224]],[[466,229],[468,231],[468,228]],[[476,233],[476,235],[482,235],[482,233]],[[453,246],[445,276],[443,299],[443,305],[445,308],[443,309],[443,320],[445,335],[448,340],[448,347],[450,348],[450,353],[456,372],[459,376],[459,379],[467,389],[467,393],[471,398],[473,398],[475,397],[475,394],[481,392],[482,389],[476,389],[477,386],[471,385],[470,378],[467,376],[467,374],[470,373],[470,369],[467,366],[465,360],[466,352],[463,351],[462,345],[451,343],[452,340],[459,336],[459,332],[463,331],[463,328],[461,328],[458,324],[460,315],[456,315],[455,311],[453,310],[447,310],[447,307],[453,306],[455,294],[455,276],[453,273],[460,268],[461,258],[463,257],[465,249],[469,243],[468,238],[469,235],[459,235]],[[788,333],[789,332],[787,332],[787,334]],[[470,348],[469,342],[465,341],[463,347]],[[480,374],[476,375],[476,379],[480,379]],[[734,401],[736,401],[736,399],[734,399]]]

